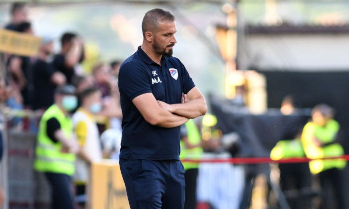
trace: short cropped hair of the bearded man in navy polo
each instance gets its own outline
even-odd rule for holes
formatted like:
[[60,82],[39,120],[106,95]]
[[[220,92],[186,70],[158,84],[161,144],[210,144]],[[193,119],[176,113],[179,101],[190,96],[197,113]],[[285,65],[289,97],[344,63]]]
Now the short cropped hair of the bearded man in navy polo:
[[162,21],[170,21],[173,22],[175,20],[174,15],[170,13],[170,11],[155,8],[148,11],[142,21],[142,33],[143,37],[146,37],[147,31],[156,31],[159,27],[159,22]]

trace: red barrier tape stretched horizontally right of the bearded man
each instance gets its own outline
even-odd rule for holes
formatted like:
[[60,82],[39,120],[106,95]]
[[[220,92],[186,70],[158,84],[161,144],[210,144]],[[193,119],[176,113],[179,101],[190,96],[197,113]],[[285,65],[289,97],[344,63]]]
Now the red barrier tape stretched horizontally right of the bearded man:
[[[329,159],[341,159],[349,161],[349,155],[343,155],[339,157],[326,157],[316,160],[329,160]],[[308,163],[315,159],[309,159],[306,157],[293,157],[283,158],[281,160],[272,160],[269,157],[252,157],[252,158],[227,158],[227,159],[182,159],[181,162],[188,163],[231,163],[231,164],[263,164],[263,163]]]

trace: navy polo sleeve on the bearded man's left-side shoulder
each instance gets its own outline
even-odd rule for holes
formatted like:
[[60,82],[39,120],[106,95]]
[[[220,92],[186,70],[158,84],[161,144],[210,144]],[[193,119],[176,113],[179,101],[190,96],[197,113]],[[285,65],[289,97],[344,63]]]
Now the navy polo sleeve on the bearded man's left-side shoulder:
[[132,101],[135,97],[146,93],[152,93],[147,69],[140,63],[128,62],[121,66],[119,72],[120,95]]

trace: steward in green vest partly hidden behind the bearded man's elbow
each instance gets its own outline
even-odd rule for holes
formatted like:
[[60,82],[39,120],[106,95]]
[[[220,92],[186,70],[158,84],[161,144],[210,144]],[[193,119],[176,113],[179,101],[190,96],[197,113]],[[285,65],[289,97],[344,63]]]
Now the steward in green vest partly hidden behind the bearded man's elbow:
[[[180,159],[201,159],[201,134],[194,120],[190,119],[180,126]],[[194,209],[196,206],[196,179],[198,163],[183,162],[185,181],[184,209]]]

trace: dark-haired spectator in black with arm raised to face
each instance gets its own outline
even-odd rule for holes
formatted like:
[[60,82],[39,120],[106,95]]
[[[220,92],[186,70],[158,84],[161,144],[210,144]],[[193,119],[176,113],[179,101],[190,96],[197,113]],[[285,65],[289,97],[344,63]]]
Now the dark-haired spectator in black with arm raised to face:
[[75,33],[67,32],[61,37],[61,47],[61,53],[54,57],[53,65],[71,84],[73,76],[77,74],[77,64],[85,58],[83,41]]

